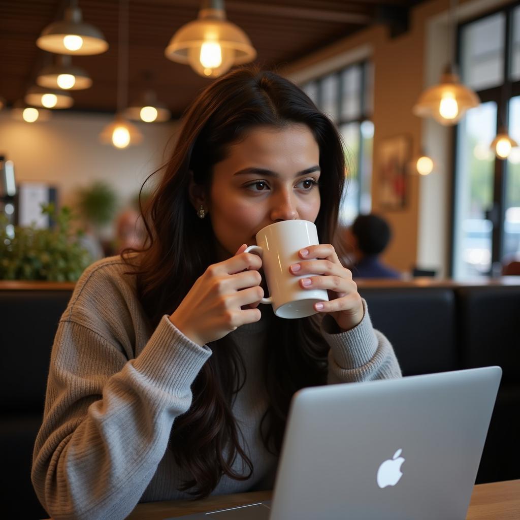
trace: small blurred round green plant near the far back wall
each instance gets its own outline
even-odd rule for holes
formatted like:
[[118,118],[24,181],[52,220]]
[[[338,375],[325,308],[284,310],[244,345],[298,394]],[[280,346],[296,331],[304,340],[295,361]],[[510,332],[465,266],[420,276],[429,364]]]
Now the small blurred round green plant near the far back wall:
[[108,224],[114,217],[117,196],[107,183],[98,180],[79,191],[78,204],[83,218],[99,228]]

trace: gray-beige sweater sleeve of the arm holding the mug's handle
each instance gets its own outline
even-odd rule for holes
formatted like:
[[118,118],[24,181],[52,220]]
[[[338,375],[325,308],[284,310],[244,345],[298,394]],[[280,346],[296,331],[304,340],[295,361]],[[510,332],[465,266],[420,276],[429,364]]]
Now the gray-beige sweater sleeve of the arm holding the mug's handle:
[[131,360],[84,324],[61,321],[32,468],[55,520],[122,519],[134,509],[210,355],[167,316]]

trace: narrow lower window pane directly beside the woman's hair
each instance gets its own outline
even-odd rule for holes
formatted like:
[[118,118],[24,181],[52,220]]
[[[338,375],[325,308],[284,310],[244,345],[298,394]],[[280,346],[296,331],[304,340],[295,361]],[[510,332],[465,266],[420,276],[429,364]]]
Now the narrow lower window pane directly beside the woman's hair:
[[359,213],[359,123],[348,123],[340,127],[345,145],[347,178],[345,193],[340,208],[340,225],[349,225]]

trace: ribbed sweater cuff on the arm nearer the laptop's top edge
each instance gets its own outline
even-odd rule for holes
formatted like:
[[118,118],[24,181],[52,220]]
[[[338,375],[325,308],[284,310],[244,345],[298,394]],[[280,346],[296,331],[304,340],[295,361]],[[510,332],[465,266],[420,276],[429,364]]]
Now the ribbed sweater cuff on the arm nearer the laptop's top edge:
[[336,363],[346,370],[366,365],[378,348],[378,339],[368,314],[367,302],[362,302],[365,314],[353,329],[341,332],[331,316],[325,316],[321,322],[321,333],[329,344]]

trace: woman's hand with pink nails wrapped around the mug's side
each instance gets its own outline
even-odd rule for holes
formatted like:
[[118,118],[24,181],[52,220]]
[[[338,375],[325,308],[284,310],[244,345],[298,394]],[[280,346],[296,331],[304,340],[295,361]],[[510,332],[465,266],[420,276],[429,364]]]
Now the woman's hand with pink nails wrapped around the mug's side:
[[352,272],[341,265],[331,244],[309,245],[298,252],[305,260],[292,264],[295,276],[309,275],[300,280],[303,289],[327,289],[328,302],[314,304],[319,313],[330,314],[340,329],[350,330],[363,319],[363,303],[352,280]]

